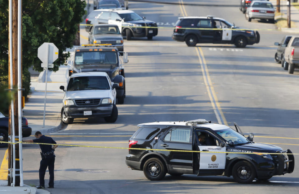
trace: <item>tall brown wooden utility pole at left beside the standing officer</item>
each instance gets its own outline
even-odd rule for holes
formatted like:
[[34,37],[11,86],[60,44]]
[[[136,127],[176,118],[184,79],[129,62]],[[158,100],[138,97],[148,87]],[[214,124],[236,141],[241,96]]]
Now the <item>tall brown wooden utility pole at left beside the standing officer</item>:
[[[11,45],[9,45],[9,74],[8,79],[12,81],[10,89],[16,89],[18,85],[18,1],[11,0],[11,10],[9,12],[12,15],[11,25],[9,31],[11,33]],[[13,94],[13,104],[10,106],[9,112],[9,134],[10,141],[15,142],[19,140],[19,123],[18,123],[18,94],[14,92]],[[13,114],[13,115],[12,115]],[[20,113],[21,114],[21,113]],[[13,118],[13,121],[12,121]],[[14,131],[12,131],[14,125]],[[13,149],[12,149],[13,147]],[[20,186],[20,164],[19,164],[19,144],[14,144],[9,146],[9,176],[8,176],[8,185],[9,186]],[[12,169],[12,170],[11,170]]]

